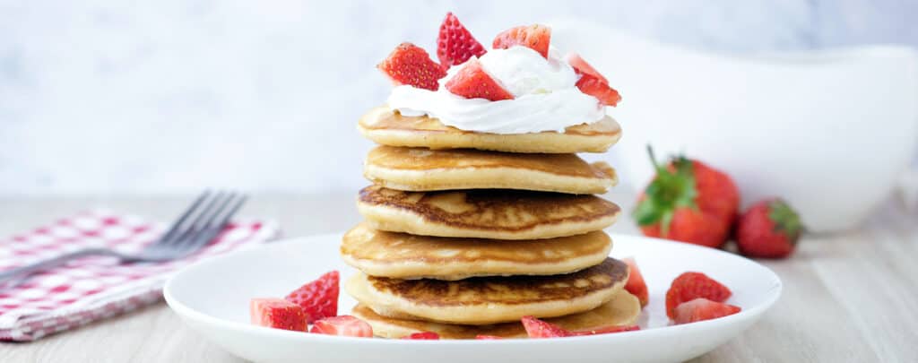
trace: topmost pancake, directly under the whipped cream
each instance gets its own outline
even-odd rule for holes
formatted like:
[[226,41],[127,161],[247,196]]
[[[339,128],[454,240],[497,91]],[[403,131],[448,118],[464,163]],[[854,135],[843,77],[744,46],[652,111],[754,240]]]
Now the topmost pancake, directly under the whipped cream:
[[610,116],[564,133],[489,134],[463,131],[428,116],[404,116],[376,107],[360,118],[357,129],[377,144],[412,148],[478,148],[507,152],[569,154],[605,152],[621,138],[621,126]]

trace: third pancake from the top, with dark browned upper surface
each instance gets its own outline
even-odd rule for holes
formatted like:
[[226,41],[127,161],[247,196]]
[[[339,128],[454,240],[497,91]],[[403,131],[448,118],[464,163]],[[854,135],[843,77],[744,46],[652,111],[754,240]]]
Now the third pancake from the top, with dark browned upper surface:
[[574,236],[615,223],[618,205],[595,195],[480,189],[403,192],[371,185],[357,210],[375,229],[420,236],[537,239]]

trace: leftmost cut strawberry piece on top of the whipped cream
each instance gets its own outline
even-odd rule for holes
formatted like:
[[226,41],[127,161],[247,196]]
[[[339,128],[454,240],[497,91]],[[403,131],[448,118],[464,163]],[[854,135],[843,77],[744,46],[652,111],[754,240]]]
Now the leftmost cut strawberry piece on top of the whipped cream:
[[386,73],[396,85],[408,84],[431,91],[440,88],[437,81],[446,76],[446,71],[431,60],[427,50],[411,43],[399,44],[376,68]]

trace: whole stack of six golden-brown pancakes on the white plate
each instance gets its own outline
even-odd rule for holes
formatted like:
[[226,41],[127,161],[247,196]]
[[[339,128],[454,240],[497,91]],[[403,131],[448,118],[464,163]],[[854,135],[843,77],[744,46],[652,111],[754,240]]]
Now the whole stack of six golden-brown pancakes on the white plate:
[[533,315],[571,330],[633,324],[602,229],[620,209],[594,193],[616,183],[602,152],[621,137],[610,117],[565,132],[499,135],[380,107],[358,128],[370,151],[360,192],[365,221],[344,235],[353,314],[376,336],[525,336]]

